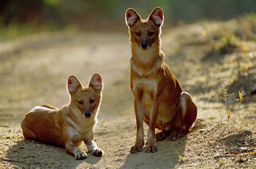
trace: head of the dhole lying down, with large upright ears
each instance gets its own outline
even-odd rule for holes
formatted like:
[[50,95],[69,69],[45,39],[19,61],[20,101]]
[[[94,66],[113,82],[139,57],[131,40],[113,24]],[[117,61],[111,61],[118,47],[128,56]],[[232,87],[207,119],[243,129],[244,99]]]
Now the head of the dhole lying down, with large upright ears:
[[89,85],[83,87],[75,75],[70,75],[67,81],[70,93],[70,107],[79,111],[85,118],[90,118],[98,111],[102,100],[103,81],[100,74],[92,75]]

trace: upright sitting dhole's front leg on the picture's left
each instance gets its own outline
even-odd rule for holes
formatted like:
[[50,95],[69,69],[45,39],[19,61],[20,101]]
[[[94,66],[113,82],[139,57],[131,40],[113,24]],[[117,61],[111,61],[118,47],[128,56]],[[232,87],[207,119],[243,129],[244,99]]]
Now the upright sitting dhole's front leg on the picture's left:
[[143,133],[143,103],[139,98],[134,99],[134,110],[136,115],[136,123],[137,123],[137,136],[136,142],[131,147],[130,152],[135,153],[142,151],[144,146],[144,133]]

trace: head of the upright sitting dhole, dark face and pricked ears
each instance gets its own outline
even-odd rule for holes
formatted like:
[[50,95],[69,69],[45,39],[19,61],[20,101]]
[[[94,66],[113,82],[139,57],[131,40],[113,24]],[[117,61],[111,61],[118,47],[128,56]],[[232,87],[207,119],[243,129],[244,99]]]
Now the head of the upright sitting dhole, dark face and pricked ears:
[[125,13],[126,25],[129,27],[130,41],[142,50],[156,45],[159,46],[161,25],[164,22],[164,12],[155,8],[147,19],[142,19],[136,10],[130,8]]

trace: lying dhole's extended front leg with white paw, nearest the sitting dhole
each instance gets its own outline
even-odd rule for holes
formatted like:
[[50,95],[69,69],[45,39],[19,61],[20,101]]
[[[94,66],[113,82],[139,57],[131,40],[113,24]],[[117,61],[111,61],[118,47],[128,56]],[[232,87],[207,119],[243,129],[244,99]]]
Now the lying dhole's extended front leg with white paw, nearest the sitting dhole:
[[93,156],[103,156],[104,151],[102,149],[99,149],[95,141],[93,140],[93,131],[89,133],[89,136],[87,136],[84,139],[84,144],[87,146],[87,150],[92,153]]

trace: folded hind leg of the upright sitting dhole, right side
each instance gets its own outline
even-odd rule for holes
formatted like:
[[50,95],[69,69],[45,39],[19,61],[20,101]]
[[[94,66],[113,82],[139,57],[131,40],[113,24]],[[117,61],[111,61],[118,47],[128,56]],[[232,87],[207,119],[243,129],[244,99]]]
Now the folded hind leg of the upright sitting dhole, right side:
[[197,119],[197,106],[193,102],[192,97],[187,92],[180,94],[179,105],[181,108],[181,122],[182,126],[179,130],[174,131],[170,139],[177,139],[184,136],[190,131],[190,128],[193,126],[194,122]]

